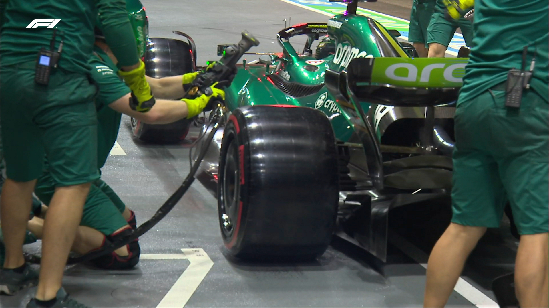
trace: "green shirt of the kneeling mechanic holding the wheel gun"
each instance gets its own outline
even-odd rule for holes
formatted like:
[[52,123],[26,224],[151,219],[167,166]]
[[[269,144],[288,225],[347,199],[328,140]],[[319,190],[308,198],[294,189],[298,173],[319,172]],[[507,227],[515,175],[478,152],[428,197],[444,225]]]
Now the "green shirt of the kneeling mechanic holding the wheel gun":
[[93,55],[89,64],[92,67],[92,78],[99,85],[95,103],[97,110],[97,168],[101,169],[114,146],[122,117],[122,113],[111,109],[109,104],[130,93],[131,90],[118,77],[118,69],[109,56],[99,47],[94,47],[93,51],[99,55],[99,57]]

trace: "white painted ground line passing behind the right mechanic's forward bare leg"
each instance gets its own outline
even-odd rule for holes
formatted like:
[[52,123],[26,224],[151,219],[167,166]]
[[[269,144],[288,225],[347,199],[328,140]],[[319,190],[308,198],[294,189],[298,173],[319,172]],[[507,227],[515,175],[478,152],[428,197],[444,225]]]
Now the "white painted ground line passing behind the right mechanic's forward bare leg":
[[[427,269],[427,263],[425,262],[429,259],[429,256],[424,253],[423,250],[417,248],[395,232],[389,231],[389,237],[390,241],[394,243],[397,248],[402,250],[402,252]],[[468,283],[461,277],[457,280],[456,287],[453,289],[465,299],[470,301],[470,303],[479,308],[499,307],[499,305],[497,305],[494,300],[489,298],[488,295],[480,292],[479,289],[475,288],[472,284]]]

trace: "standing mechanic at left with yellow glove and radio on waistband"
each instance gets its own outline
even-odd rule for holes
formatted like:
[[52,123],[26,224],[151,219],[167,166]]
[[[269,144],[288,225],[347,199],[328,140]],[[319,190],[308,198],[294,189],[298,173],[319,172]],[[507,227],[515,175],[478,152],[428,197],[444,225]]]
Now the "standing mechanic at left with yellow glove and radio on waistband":
[[[124,1],[9,0],[4,4],[0,12],[0,121],[7,179],[0,197],[0,218],[6,255],[0,289],[12,294],[38,281],[30,306],[79,306],[61,282],[90,182],[99,177],[92,102],[96,87],[89,79],[88,65],[98,14],[138,109],[147,110],[154,97],[131,37]],[[44,25],[37,19],[48,21]],[[57,187],[44,224],[38,277],[25,264],[22,246],[44,155]]]

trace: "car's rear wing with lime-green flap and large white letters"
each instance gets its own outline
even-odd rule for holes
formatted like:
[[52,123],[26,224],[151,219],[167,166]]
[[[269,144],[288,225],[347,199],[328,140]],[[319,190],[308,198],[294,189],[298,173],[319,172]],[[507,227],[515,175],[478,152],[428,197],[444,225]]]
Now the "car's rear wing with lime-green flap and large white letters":
[[327,70],[330,92],[349,103],[437,106],[457,100],[468,58],[356,58]]

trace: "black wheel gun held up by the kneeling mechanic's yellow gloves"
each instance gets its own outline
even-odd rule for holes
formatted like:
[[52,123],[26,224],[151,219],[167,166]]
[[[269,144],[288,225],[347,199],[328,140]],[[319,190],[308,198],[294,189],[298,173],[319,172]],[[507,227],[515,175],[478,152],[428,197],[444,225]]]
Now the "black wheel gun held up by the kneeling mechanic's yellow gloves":
[[[191,88],[187,91],[184,98],[194,99],[202,94],[209,96],[212,94],[211,85],[217,82],[216,88],[225,88],[231,84],[232,78],[236,75],[236,64],[244,53],[251,47],[259,45],[259,41],[248,32],[242,32],[242,39],[238,44],[225,48],[221,60],[215,62],[203,73],[200,73],[191,83]],[[231,78],[232,77],[232,78]]]

